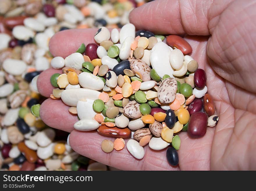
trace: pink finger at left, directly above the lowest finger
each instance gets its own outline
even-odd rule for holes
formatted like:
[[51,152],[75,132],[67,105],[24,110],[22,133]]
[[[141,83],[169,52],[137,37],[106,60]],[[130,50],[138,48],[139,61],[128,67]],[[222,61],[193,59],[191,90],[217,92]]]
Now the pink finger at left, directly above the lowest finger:
[[40,117],[50,127],[71,132],[78,118],[77,115],[69,113],[68,108],[69,106],[65,105],[61,99],[48,98],[40,107]]

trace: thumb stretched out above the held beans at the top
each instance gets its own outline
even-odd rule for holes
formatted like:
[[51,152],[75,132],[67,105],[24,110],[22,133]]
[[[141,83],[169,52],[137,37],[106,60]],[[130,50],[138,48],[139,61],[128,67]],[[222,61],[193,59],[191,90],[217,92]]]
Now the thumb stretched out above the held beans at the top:
[[222,0],[155,0],[132,10],[129,19],[137,30],[157,34],[210,35],[209,20],[227,4]]

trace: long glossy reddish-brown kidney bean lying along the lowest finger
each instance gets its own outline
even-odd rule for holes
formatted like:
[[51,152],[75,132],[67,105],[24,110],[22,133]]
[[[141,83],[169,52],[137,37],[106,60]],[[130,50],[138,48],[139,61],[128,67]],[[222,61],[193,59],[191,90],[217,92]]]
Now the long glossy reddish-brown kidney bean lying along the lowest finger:
[[106,125],[101,125],[97,129],[97,132],[100,135],[106,136],[106,137],[113,137],[113,138],[123,138],[128,139],[131,137],[131,130],[129,128],[117,128],[117,127],[108,127]]

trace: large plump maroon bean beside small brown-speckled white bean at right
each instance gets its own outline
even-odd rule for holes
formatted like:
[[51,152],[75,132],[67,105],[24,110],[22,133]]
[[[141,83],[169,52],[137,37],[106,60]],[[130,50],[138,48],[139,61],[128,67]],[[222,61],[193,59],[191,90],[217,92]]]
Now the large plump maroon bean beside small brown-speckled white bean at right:
[[190,116],[188,135],[191,138],[200,138],[205,135],[208,116],[202,112],[195,112]]

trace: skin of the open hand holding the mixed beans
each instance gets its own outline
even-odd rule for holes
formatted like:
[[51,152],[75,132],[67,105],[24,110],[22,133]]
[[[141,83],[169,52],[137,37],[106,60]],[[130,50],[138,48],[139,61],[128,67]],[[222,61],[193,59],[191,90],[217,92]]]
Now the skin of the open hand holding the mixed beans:
[[[171,166],[166,149],[153,151],[137,160],[127,151],[104,153],[105,137],[74,130],[77,116],[61,100],[42,103],[40,117],[49,126],[71,132],[74,151],[123,170],[255,170],[256,169],[256,2],[253,0],[155,0],[134,9],[130,22],[136,30],[155,34],[182,35],[191,44],[191,56],[207,74],[208,93],[214,98],[218,125],[207,128],[204,137],[191,139],[179,134],[179,165]],[[97,29],[61,31],[49,42],[54,56],[65,58],[81,43],[94,42]],[[49,97],[54,87],[48,69],[38,78],[39,92]],[[114,140],[114,138],[107,138]],[[125,140],[127,142],[127,140]]]

